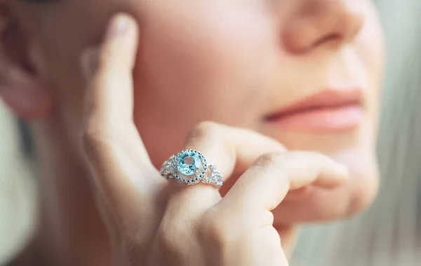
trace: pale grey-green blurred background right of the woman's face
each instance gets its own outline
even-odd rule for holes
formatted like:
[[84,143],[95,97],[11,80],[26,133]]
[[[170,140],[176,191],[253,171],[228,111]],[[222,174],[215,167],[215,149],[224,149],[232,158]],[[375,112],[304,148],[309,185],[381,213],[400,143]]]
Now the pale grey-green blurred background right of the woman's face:
[[[303,231],[299,265],[421,265],[421,1],[377,1],[388,64],[378,140],[380,193],[345,223]],[[300,264],[301,263],[301,264]]]

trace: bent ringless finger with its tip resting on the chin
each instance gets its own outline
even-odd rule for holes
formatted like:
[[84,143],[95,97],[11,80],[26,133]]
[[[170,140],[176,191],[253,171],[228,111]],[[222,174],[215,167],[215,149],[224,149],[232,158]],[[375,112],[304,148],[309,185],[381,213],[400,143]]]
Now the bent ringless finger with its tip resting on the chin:
[[250,167],[220,204],[229,209],[275,209],[289,190],[310,184],[335,188],[347,181],[347,169],[318,153],[290,152],[264,155]]

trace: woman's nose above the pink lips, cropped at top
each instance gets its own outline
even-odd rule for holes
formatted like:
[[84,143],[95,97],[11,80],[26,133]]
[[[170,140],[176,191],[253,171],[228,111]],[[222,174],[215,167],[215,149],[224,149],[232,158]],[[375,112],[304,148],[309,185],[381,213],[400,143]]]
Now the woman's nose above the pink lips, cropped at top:
[[[295,54],[317,48],[338,49],[354,40],[363,26],[361,1],[300,0],[282,29],[286,50]],[[291,13],[290,13],[291,14]]]

